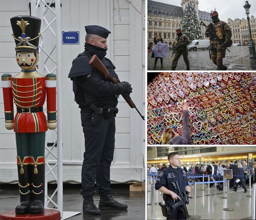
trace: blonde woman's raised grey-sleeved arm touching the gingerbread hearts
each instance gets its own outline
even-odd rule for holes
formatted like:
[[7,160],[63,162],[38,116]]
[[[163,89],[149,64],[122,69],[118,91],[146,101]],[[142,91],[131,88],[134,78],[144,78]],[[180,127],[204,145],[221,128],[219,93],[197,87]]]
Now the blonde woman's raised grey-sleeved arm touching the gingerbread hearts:
[[191,144],[191,128],[188,118],[188,103],[184,102],[183,109],[183,122],[182,122],[182,138],[184,144]]

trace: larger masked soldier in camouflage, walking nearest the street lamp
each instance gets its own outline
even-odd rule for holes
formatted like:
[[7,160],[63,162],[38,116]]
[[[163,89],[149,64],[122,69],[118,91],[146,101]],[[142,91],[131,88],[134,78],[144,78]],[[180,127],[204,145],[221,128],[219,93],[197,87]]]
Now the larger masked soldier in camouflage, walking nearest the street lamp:
[[210,23],[204,33],[206,37],[210,36],[211,60],[217,66],[217,70],[226,70],[222,59],[225,58],[226,48],[232,45],[232,32],[228,24],[218,18],[218,12],[211,12],[211,18],[213,24]]

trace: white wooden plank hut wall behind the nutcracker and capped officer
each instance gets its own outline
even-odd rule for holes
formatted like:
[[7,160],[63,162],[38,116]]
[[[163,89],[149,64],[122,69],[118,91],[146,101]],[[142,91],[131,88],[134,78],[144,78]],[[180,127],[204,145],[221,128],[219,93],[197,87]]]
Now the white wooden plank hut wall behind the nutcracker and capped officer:
[[[30,0],[0,1],[0,75],[20,72],[16,64],[14,39],[10,18],[17,15],[29,15]],[[144,113],[145,69],[144,69],[144,0],[61,0],[61,28],[63,31],[79,31],[79,44],[62,45],[62,125],[63,125],[63,182],[81,182],[81,166],[84,153],[80,112],[74,102],[72,82],[68,72],[72,60],[84,51],[85,25],[100,25],[111,31],[108,37],[107,57],[116,66],[116,72],[122,81],[132,84],[131,98],[137,108]],[[50,15],[49,15],[50,18]],[[119,19],[121,18],[121,19]],[[46,23],[42,21],[44,27]],[[54,28],[54,23],[52,27]],[[41,28],[42,30],[42,28]],[[44,42],[50,50],[53,40],[50,30],[46,32]],[[54,52],[53,52],[54,56]],[[40,53],[40,62],[45,60]],[[48,64],[51,66],[52,64]],[[42,65],[38,72],[46,74]],[[16,168],[16,144],[13,130],[4,127],[4,104],[2,84],[0,84],[0,182],[14,183],[18,180]],[[114,183],[144,181],[144,122],[134,109],[119,98],[119,113],[116,117],[116,146],[111,165],[111,181]],[[16,108],[14,108],[16,110]],[[56,134],[47,132],[47,142],[54,142]],[[57,154],[57,150],[54,149]],[[54,162],[49,157],[48,162]],[[49,176],[48,182],[54,181]]]

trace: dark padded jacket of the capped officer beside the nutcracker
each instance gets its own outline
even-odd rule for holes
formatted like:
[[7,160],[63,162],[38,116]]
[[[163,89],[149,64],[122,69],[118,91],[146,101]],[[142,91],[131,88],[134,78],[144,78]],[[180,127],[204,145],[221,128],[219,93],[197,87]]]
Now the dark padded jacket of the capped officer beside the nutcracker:
[[[82,107],[88,108],[91,104],[97,107],[103,106],[104,109],[115,107],[118,104],[118,96],[116,96],[119,92],[118,85],[106,80],[100,72],[92,68],[89,61],[96,54],[110,75],[118,78],[114,71],[114,64],[108,58],[104,57],[106,55],[104,49],[87,43],[85,44],[85,49],[82,54],[79,54],[73,60],[69,74],[69,78],[74,80],[78,90],[84,94],[85,102]],[[81,105],[81,103],[79,104]]]

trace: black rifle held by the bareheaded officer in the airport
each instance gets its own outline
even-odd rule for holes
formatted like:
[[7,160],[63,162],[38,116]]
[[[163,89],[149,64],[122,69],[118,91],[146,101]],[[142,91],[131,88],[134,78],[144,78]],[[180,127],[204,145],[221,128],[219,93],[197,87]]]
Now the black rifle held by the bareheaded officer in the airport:
[[188,219],[191,216],[188,214],[188,209],[186,207],[186,204],[189,204],[188,198],[191,198],[191,197],[188,197],[188,194],[186,192],[180,192],[180,187],[179,187],[178,182],[177,182],[176,178],[174,177],[173,173],[171,173],[171,178],[173,181],[172,184],[174,185],[174,188],[178,191],[178,196],[180,197],[180,199],[178,198],[177,202],[175,202],[172,205],[172,208],[174,209],[178,206],[182,206],[181,210],[182,210],[184,216],[186,216],[186,218]]

